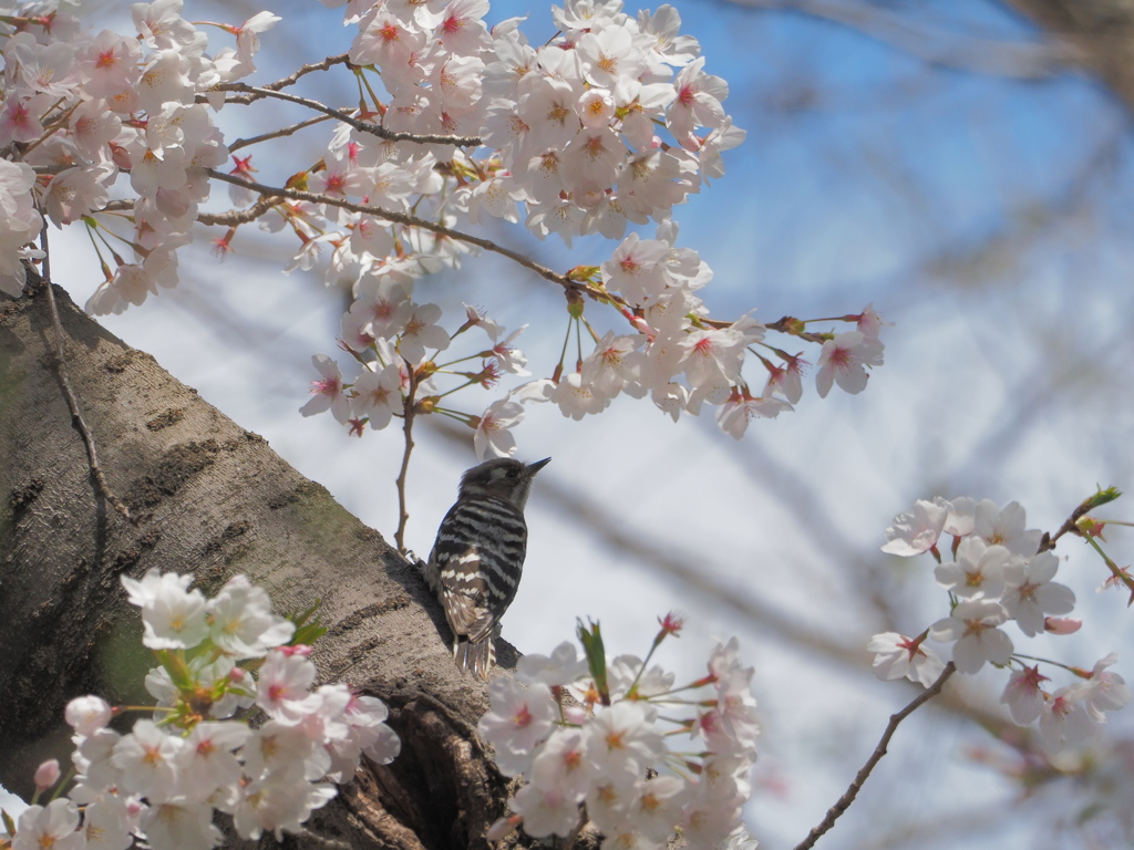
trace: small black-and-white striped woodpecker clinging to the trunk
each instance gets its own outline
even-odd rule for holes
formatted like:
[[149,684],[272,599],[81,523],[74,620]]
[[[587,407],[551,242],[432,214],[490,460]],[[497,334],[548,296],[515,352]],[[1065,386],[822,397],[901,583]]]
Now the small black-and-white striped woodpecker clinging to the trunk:
[[550,460],[496,458],[468,469],[429,561],[418,561],[452,631],[457,668],[481,679],[496,663],[500,618],[519,587],[527,552],[524,505],[535,474]]

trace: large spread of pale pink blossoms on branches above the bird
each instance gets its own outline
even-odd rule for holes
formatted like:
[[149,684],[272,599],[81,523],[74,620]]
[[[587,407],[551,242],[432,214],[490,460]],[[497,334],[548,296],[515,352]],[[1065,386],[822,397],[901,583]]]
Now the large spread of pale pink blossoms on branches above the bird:
[[[539,236],[555,231],[568,244],[572,236],[590,232],[621,239],[609,261],[578,279],[593,284],[592,294],[609,296],[627,332],[611,330],[600,337],[586,323],[591,352],[584,358],[576,326],[581,339],[574,369],[560,362],[552,376],[514,389],[482,416],[466,414],[476,428],[479,457],[515,450],[507,430],[522,419],[523,405],[533,401],[551,401],[574,419],[604,410],[624,392],[650,397],[674,419],[682,413],[700,415],[708,403],[717,406],[720,427],[737,439],[752,419],[792,409],[803,393],[807,364],[802,354],[764,345],[767,329],[750,316],[733,323],[710,321],[696,290],[712,279],[712,271],[695,250],[677,246],[671,207],[699,190],[703,178],[723,173],[720,151],[738,144],[744,134],[731,126],[721,105],[727,85],[704,73],[700,45],[678,34],[680,17],[672,7],[632,17],[620,0],[567,2],[552,8],[559,34],[533,48],[517,20],[489,31],[482,22],[485,0],[379,2],[363,11],[365,6],[347,7],[347,23],[358,28],[350,59],[359,66],[373,63],[381,73],[391,94],[381,107],[382,126],[454,138],[479,131],[490,153],[474,161],[455,145],[395,148],[357,129],[344,129],[323,159],[325,170],[310,175],[308,188],[333,188],[371,203],[378,198],[399,212],[416,198],[413,209],[418,215],[428,210],[454,223],[477,223],[482,213],[518,222],[523,205],[526,224]],[[675,68],[680,68],[676,77]],[[671,143],[657,135],[661,128]],[[447,159],[455,177],[426,185],[422,177],[435,175],[434,156]],[[399,168],[411,175],[395,179]],[[414,195],[422,192],[425,195]],[[329,214],[325,209],[319,212]],[[440,315],[440,308],[412,301],[414,278],[431,267],[420,253],[422,231],[382,227],[366,212],[342,207],[335,216],[338,227],[353,229],[349,238],[340,232],[328,272],[328,280],[333,275],[354,287],[342,343],[356,356],[367,349],[373,354],[358,377],[366,392],[346,392],[337,407],[316,401],[307,410],[330,408],[347,422],[347,401],[365,399],[379,383],[375,374],[390,368],[381,340],[408,360],[409,369],[432,368],[417,358],[420,333],[413,323],[422,311]],[[658,222],[655,238],[625,236],[627,222],[650,220]],[[305,231],[304,246],[318,247],[328,233]],[[416,243],[404,238],[409,235]],[[418,253],[408,252],[407,245]],[[455,264],[458,247],[434,239],[432,265]],[[577,325],[582,301],[572,311]],[[885,323],[878,314],[868,307],[840,320],[854,322],[855,330],[809,337],[822,346],[820,396],[836,382],[860,392],[868,368],[882,364],[879,332]],[[492,342],[496,346],[498,338]],[[437,333],[433,345],[443,349],[443,334]],[[754,346],[767,354],[758,355],[767,373],[759,394],[742,375]],[[486,367],[493,365],[491,357],[485,360]],[[323,356],[316,368],[323,373],[316,392],[333,394],[350,386],[331,374],[335,367]],[[405,385],[406,369],[399,369]],[[381,383],[380,396],[392,398],[392,372]],[[361,407],[365,417],[367,402]],[[357,413],[354,418],[359,418]],[[381,427],[389,417],[379,411],[369,422]]]

